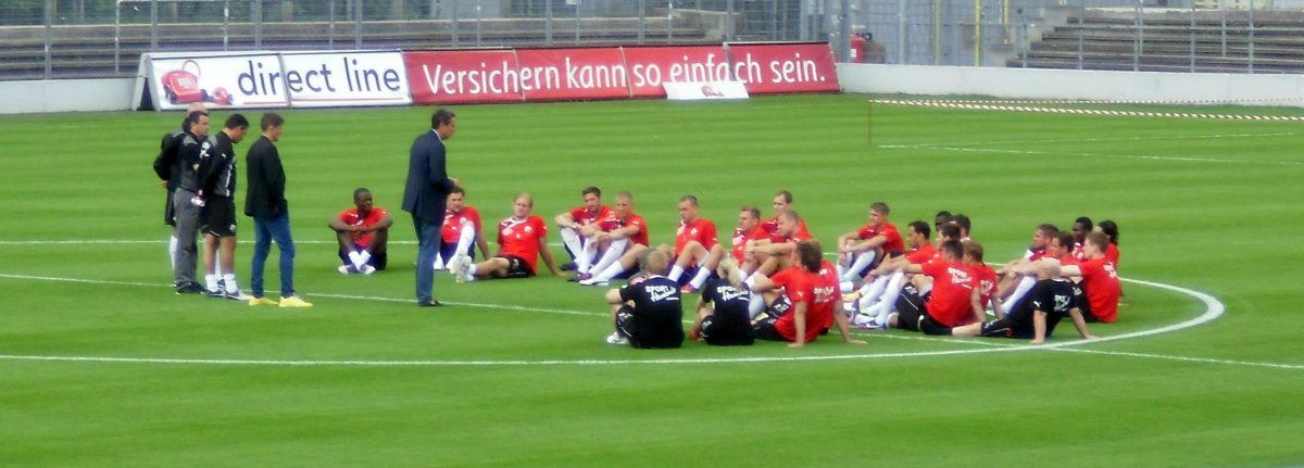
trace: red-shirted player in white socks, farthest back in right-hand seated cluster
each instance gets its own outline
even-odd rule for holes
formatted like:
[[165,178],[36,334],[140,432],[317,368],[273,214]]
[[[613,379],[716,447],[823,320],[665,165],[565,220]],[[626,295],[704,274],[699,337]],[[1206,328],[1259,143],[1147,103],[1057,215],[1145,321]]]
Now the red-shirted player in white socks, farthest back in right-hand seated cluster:
[[901,232],[888,222],[891,212],[888,203],[874,202],[868,224],[837,237],[837,276],[842,292],[852,292],[875,262],[905,250]]

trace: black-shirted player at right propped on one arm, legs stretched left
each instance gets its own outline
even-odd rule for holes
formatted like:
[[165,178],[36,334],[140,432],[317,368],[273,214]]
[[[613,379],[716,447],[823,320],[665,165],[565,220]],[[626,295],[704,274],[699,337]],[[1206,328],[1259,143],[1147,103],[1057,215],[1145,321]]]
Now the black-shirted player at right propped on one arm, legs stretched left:
[[1054,258],[1042,258],[1033,262],[1030,267],[1035,269],[1037,284],[1028,292],[1026,299],[1018,302],[1017,308],[995,321],[956,327],[952,334],[955,336],[1031,339],[1033,343],[1039,344],[1051,336],[1055,326],[1064,317],[1071,317],[1082,339],[1094,339],[1095,336],[1088,331],[1086,319],[1082,318],[1078,309],[1073,283],[1060,278],[1060,262]]

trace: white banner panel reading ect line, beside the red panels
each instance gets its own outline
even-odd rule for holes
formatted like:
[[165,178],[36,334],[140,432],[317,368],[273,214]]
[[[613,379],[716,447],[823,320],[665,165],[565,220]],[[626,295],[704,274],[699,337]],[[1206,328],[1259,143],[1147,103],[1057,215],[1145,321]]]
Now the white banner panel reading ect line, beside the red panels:
[[402,52],[284,52],[280,59],[292,107],[412,103]]

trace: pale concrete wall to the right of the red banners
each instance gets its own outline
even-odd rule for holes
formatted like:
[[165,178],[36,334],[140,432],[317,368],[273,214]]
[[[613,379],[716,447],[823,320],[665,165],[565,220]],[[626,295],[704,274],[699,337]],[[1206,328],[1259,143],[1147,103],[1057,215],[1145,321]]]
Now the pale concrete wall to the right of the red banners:
[[837,64],[848,93],[1304,107],[1304,76]]

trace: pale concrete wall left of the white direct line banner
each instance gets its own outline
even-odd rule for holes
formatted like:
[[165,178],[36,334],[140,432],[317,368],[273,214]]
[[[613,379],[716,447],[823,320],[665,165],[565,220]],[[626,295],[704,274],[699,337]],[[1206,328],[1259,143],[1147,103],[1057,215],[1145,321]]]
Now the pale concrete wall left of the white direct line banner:
[[136,78],[0,81],[0,113],[125,111]]

